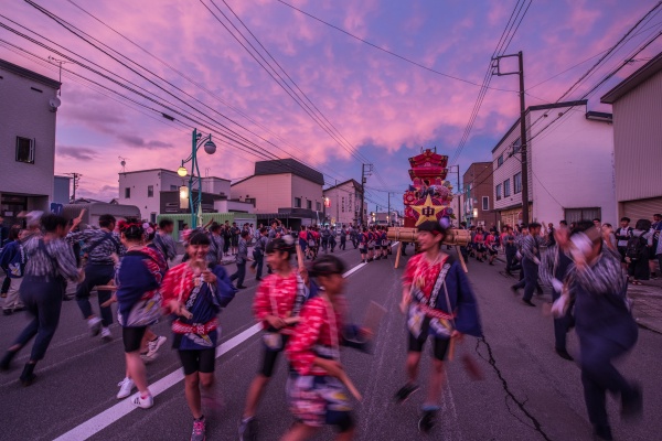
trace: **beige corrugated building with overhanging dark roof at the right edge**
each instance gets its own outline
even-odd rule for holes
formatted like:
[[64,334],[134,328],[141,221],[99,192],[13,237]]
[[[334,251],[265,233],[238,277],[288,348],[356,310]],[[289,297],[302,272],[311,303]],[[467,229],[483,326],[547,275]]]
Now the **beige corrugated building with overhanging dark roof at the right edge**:
[[601,99],[613,109],[618,214],[651,219],[662,213],[662,53]]

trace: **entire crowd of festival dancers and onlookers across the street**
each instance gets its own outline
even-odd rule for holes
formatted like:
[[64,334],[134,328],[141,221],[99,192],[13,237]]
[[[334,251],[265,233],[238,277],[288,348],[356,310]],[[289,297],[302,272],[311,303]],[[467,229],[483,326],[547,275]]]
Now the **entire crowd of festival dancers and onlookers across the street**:
[[[146,363],[154,359],[168,337],[156,335],[150,327],[170,318],[172,347],[184,372],[184,396],[193,419],[191,440],[204,440],[205,412],[218,407],[214,376],[218,314],[245,288],[250,262],[259,282],[253,312],[263,326],[263,355],[238,419],[239,440],[257,438],[259,401],[281,353],[288,362],[285,387],[295,419],[282,439],[306,440],[325,424],[338,429],[339,440],[353,438],[355,421],[349,397],[361,399],[361,395],[342,367],[340,346],[367,352],[374,334],[346,322],[345,266],[332,254],[338,243],[344,250],[349,239],[363,263],[386,259],[392,244],[385,227],[310,226],[293,232],[278,219],[256,229],[249,224],[238,227],[212,222],[183,232],[185,252],[178,262],[170,219],[154,225],[137,218],[117,222],[104,215],[98,228],[82,229],[81,218],[70,222],[55,214],[31,213],[25,228],[10,232],[11,241],[0,252],[0,267],[9,280],[4,305],[12,312],[26,309],[32,319],[4,352],[0,370],[10,370],[15,355],[34,340],[19,377],[24,386],[34,383],[36,364],[46,354],[62,302],[67,299],[65,287],[75,283],[76,303],[93,336],[113,338],[111,304],[117,303],[126,364],[117,398],[130,397],[136,407],[153,406]],[[470,227],[471,240],[461,249],[467,261],[489,265],[503,252],[504,272],[514,276],[520,270],[520,281],[512,290],[519,293],[523,289],[522,301],[528,306],[535,305],[534,293],[542,292],[541,281],[552,287],[555,349],[563,358],[573,359],[566,349],[566,334],[574,327],[589,420],[602,440],[611,439],[607,391],[620,397],[624,418],[641,413],[641,387],[626,379],[612,361],[637,342],[627,287],[656,277],[652,263],[653,258],[662,260],[661,219],[655,215],[652,223],[640,219],[630,228],[630,219],[624,217],[616,230],[599,219],[569,226],[560,222],[557,227],[534,222],[505,226],[501,233]],[[433,366],[418,422],[425,433],[437,419],[445,361],[452,357],[455,343],[463,334],[482,335],[476,295],[459,261],[445,252],[446,235],[445,224],[421,223],[416,239],[419,252],[407,261],[403,276],[407,381],[394,399],[404,402],[419,389],[420,355],[431,340]],[[236,263],[232,275],[223,266],[229,256]],[[306,265],[306,260],[310,262]],[[268,273],[263,276],[265,263]],[[93,290],[98,313],[89,302]]]

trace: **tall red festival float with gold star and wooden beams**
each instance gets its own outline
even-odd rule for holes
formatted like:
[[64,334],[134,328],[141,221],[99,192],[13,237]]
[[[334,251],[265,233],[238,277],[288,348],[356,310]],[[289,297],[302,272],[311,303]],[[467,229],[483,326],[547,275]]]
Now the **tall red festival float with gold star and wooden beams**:
[[[398,240],[395,267],[397,268],[401,257],[403,241],[416,243],[416,227],[426,220],[440,222],[450,225],[455,218],[450,203],[452,202],[452,185],[446,181],[448,174],[448,157],[437,153],[437,149],[426,149],[413,158],[409,158],[409,178],[412,184],[403,195],[405,204],[404,227],[389,227],[388,238]],[[469,232],[465,229],[448,228],[444,244],[466,246],[469,243]],[[458,257],[462,262],[465,271],[467,267],[462,255],[458,249]]]

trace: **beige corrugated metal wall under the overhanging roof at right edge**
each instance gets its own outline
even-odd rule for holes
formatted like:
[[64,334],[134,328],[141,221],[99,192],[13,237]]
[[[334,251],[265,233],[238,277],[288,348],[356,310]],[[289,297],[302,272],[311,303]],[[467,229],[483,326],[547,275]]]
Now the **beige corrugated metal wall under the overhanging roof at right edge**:
[[613,105],[617,201],[662,196],[662,72]]

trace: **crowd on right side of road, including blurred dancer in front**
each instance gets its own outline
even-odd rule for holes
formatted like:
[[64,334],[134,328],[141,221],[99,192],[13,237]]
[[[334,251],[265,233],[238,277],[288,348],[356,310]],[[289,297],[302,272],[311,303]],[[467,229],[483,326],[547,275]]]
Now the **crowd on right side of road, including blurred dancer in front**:
[[[639,417],[642,389],[626,379],[612,362],[634,346],[638,326],[627,295],[628,284],[656,279],[662,269],[662,215],[653,220],[639,219],[634,228],[622,217],[619,228],[600,219],[568,225],[530,223],[515,227],[495,227],[488,232],[470,227],[471,240],[462,248],[467,260],[489,260],[500,252],[505,257],[506,276],[520,281],[511,287],[523,289],[522,302],[535,306],[533,294],[552,288],[555,352],[574,361],[566,348],[566,336],[575,330],[579,340],[578,361],[584,397],[596,439],[611,440],[606,395],[620,398],[623,418]],[[466,225],[461,225],[466,228]]]

